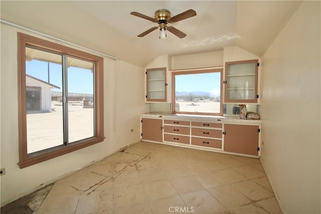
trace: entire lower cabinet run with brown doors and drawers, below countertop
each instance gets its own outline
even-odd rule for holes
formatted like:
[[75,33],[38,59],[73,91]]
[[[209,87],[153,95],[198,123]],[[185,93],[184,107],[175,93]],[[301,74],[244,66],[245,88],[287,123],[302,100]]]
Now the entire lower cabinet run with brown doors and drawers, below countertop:
[[[260,123],[221,120],[171,120],[162,117],[141,119],[141,139],[155,143],[258,157]],[[210,123],[209,123],[210,122]]]

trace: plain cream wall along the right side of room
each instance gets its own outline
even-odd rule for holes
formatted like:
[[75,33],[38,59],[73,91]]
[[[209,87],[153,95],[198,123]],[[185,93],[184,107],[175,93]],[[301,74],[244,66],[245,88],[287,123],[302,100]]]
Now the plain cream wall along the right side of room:
[[285,213],[320,213],[320,2],[303,1],[262,56],[261,162]]

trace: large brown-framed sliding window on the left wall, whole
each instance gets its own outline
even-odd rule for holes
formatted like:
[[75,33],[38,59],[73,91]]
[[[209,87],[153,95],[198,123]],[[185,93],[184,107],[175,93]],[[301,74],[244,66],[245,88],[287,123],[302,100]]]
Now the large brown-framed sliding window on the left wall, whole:
[[102,142],[103,58],[18,33],[19,163]]

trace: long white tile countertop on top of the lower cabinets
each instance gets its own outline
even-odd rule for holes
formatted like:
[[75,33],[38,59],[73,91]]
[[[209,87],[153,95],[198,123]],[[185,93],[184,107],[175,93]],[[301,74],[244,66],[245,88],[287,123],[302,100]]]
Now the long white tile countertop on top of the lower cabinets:
[[176,120],[195,120],[195,121],[222,121],[222,122],[232,122],[232,123],[254,123],[261,124],[261,120],[254,119],[241,119],[238,117],[223,117],[223,116],[212,116],[212,115],[187,115],[187,114],[171,114],[163,112],[150,112],[143,113],[140,117],[147,118],[163,118],[163,119],[176,119]]

